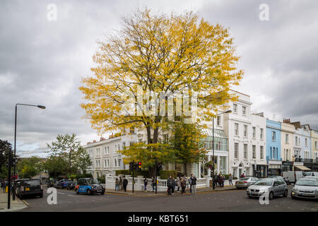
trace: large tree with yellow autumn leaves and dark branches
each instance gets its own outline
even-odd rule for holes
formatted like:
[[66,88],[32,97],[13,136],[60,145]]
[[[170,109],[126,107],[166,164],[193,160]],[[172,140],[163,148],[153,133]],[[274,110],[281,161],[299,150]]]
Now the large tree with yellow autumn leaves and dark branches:
[[[148,149],[153,151],[159,129],[167,124],[167,110],[160,112],[167,102],[149,107],[160,93],[184,95],[192,90],[193,96],[196,92],[195,123],[211,120],[220,105],[234,100],[228,91],[230,85],[238,85],[243,71],[237,69],[239,57],[228,29],[199,20],[192,12],[167,15],[147,8],[122,22],[121,30],[99,42],[93,56],[94,76],[83,78],[79,88],[86,100],[81,107],[93,129],[99,133],[131,126],[146,129],[152,144]],[[141,96],[144,106],[136,104]],[[129,98],[136,100],[136,108],[123,113]],[[153,114],[148,114],[149,109]],[[191,103],[189,109],[195,110]]]

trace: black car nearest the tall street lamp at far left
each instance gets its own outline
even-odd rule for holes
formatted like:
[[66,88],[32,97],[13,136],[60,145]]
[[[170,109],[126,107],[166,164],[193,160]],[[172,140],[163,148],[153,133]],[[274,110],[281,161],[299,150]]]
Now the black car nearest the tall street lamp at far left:
[[43,198],[43,188],[40,179],[22,179],[16,188],[18,198],[25,196],[40,196]]

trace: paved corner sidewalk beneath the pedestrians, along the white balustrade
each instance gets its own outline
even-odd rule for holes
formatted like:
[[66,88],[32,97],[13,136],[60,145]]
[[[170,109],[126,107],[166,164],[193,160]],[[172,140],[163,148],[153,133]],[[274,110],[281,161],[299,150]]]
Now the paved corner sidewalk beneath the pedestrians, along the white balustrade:
[[[223,188],[216,187],[215,190],[213,190],[213,188],[211,188],[211,187],[198,188],[198,189],[196,189],[196,194],[202,194],[202,193],[206,193],[206,192],[231,191],[231,190],[236,190],[235,186],[225,185]],[[112,189],[106,189],[105,193],[119,194],[119,195],[126,195],[126,196],[139,196],[139,197],[140,196],[167,196],[167,192],[165,192],[165,191],[157,191],[157,194],[155,194],[155,192],[153,192],[152,187],[150,187],[147,192],[135,190],[134,193],[132,193],[131,191],[124,192],[124,191],[114,191]],[[180,189],[180,192],[177,192],[177,189],[176,189],[174,195],[181,196],[181,189]],[[186,193],[184,195],[191,195],[189,189],[186,189]]]

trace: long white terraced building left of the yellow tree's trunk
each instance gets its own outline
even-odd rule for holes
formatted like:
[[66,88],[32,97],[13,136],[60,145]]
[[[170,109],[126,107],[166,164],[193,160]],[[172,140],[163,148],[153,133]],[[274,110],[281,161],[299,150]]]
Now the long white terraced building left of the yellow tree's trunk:
[[122,162],[123,156],[118,152],[124,146],[136,143],[137,136],[134,130],[129,129],[123,136],[110,137],[108,139],[101,138],[100,141],[93,141],[84,145],[90,155],[92,166],[87,170],[88,173],[93,174],[94,178],[102,177],[105,175],[114,175],[115,170],[129,169],[128,165]]

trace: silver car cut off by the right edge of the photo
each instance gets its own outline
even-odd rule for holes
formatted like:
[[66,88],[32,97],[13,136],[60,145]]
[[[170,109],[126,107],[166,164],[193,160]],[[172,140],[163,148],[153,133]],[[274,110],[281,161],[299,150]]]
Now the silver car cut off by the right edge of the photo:
[[291,192],[292,198],[318,198],[318,181],[312,178],[298,179]]

